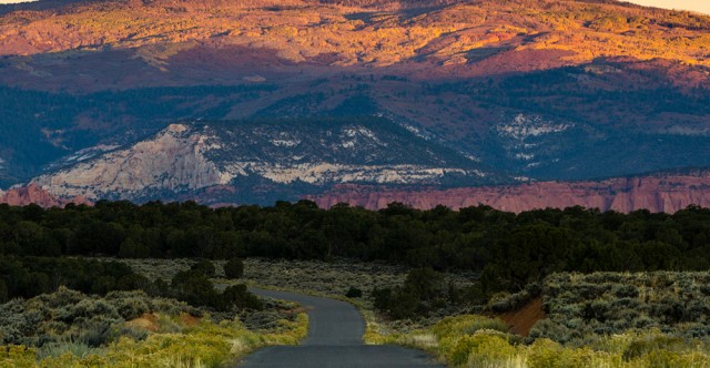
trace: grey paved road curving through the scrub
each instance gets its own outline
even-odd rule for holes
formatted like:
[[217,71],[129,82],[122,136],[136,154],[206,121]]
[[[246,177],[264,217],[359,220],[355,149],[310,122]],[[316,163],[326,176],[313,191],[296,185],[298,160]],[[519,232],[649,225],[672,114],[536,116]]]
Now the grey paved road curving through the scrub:
[[[392,345],[364,345],[365,321],[351,304],[284,292],[250,289],[292,300],[306,308],[308,337],[300,346],[268,347],[247,356],[240,367],[434,367],[423,351]],[[438,366],[443,367],[443,366]]]

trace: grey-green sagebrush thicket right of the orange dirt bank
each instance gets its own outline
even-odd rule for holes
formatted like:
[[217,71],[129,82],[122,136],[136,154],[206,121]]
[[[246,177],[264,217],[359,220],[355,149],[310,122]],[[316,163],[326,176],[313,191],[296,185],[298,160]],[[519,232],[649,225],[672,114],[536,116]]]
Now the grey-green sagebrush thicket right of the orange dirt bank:
[[669,336],[706,338],[710,298],[702,286],[708,283],[709,273],[554,274],[544,282],[547,319],[530,337],[580,346],[588,336],[657,327]]

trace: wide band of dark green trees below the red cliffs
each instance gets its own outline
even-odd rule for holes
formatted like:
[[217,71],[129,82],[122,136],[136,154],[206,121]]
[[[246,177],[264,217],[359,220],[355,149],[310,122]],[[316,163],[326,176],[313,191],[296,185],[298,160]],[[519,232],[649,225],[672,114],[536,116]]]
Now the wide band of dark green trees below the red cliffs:
[[222,208],[194,202],[0,205],[0,254],[3,259],[345,257],[481,272],[481,287],[490,294],[523,289],[556,272],[708,269],[710,209],[626,215],[570,207],[516,215],[483,205],[456,212],[398,203],[376,212],[347,205],[321,209],[308,201]]

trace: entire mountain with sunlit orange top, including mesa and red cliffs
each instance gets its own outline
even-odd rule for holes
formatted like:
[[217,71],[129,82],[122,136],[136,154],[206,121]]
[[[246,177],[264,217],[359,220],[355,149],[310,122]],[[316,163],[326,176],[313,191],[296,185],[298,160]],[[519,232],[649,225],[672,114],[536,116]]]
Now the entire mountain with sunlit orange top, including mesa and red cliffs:
[[[710,184],[710,17],[611,0],[0,6],[0,186],[57,201],[495,192],[672,211]],[[615,206],[633,181],[692,194]]]

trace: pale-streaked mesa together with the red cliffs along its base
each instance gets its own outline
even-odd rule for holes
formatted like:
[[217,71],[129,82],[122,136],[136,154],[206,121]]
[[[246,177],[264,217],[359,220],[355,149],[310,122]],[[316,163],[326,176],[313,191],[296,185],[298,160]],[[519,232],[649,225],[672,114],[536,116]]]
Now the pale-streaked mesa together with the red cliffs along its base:
[[385,119],[196,122],[171,124],[138,143],[74,160],[27,187],[3,193],[0,201],[61,206],[102,198],[195,200],[226,205],[306,197],[322,207],[485,204],[516,213],[576,205],[669,213],[689,205],[710,207],[710,171],[507,186],[495,186],[497,181],[476,160]]

